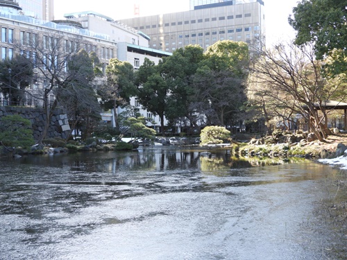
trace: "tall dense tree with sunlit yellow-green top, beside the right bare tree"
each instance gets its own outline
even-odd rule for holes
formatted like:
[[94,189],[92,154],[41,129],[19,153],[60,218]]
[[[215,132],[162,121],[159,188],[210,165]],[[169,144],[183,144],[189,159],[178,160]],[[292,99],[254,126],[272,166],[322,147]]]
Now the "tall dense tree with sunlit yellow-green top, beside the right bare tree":
[[232,125],[246,101],[248,47],[244,42],[217,42],[204,53],[194,77],[198,104],[209,124]]

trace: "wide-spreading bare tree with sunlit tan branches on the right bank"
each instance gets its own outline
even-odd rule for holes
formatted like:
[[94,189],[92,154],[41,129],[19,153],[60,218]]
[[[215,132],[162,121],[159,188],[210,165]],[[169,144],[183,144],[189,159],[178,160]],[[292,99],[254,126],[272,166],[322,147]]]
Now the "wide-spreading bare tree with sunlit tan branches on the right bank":
[[251,66],[253,98],[260,97],[268,111],[283,118],[294,112],[307,117],[314,135],[323,141],[330,134],[324,104],[331,98],[342,100],[345,93],[342,81],[325,78],[322,68],[311,46],[289,43],[260,50]]

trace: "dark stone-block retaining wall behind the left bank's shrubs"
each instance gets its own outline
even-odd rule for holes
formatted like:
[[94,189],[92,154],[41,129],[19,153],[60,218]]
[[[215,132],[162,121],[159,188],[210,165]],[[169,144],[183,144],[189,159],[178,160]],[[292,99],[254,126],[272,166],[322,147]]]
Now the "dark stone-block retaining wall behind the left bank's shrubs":
[[[28,108],[28,107],[0,107],[1,116],[9,116],[19,114],[24,119],[29,119],[33,128],[33,137],[37,141],[42,135],[44,130],[44,122],[46,115],[42,108]],[[49,130],[46,138],[61,137],[65,139],[69,133],[70,126],[67,120],[67,114],[63,110],[55,110],[51,118]]]

